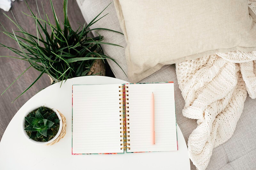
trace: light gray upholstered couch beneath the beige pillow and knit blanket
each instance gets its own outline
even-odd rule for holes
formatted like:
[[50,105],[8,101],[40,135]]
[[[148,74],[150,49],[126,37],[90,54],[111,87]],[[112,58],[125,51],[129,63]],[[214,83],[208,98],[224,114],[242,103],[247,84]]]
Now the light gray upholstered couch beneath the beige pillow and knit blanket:
[[[112,0],[77,0],[77,3],[82,11],[85,21],[90,22],[97,16]],[[101,27],[116,30],[121,32],[119,21],[117,19],[114,3],[109,5],[102,15],[109,13],[100,21],[91,26],[91,28]],[[104,36],[106,42],[115,43],[121,46],[126,46],[124,36],[122,34],[113,33],[105,30],[99,30]],[[116,62],[127,71],[124,48],[116,46],[102,46],[104,52],[114,58]],[[123,71],[111,60],[108,60],[116,78],[129,81]],[[175,65],[166,65],[151,74],[140,82],[162,82],[173,81],[175,90],[175,107],[176,119],[185,141],[191,132],[196,128],[196,120],[188,119],[182,115],[184,100],[177,84]],[[234,170],[248,169],[252,170],[256,167],[256,100],[252,100],[249,96],[244,103],[244,111],[237,123],[234,135],[224,144],[213,149],[212,157],[207,167],[207,170]],[[191,163],[191,170],[196,169]]]

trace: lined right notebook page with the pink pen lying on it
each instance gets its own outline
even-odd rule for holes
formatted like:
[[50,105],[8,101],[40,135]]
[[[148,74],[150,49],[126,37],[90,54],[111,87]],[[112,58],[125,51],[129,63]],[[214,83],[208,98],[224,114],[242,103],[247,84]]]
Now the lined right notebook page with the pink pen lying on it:
[[[177,133],[173,83],[126,84],[129,94],[130,150],[176,151]],[[155,98],[155,145],[151,144],[151,98]]]

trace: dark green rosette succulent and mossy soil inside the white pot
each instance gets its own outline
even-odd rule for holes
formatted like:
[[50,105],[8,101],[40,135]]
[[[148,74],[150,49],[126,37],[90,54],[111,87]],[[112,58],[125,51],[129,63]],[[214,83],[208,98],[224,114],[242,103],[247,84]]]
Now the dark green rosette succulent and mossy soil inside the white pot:
[[25,117],[25,131],[29,138],[35,141],[47,142],[58,132],[60,119],[56,113],[47,107],[40,107],[33,110]]

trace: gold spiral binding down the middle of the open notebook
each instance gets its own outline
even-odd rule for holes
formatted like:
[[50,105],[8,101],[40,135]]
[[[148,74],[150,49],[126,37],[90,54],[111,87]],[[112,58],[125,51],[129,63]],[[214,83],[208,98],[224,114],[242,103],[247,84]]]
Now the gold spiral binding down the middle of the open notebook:
[[130,137],[130,135],[128,135],[128,133],[130,133],[130,131],[127,131],[127,129],[130,129],[130,127],[127,127],[127,125],[129,125],[130,123],[128,123],[127,121],[129,121],[129,118],[126,118],[126,117],[129,117],[129,106],[127,106],[129,104],[129,102],[127,102],[129,99],[127,98],[129,96],[129,94],[127,94],[129,92],[128,89],[128,86],[119,86],[119,88],[121,88],[121,90],[119,90],[119,92],[121,92],[121,94],[119,94],[119,96],[121,96],[121,98],[119,98],[119,100],[121,100],[121,102],[119,102],[120,106],[119,108],[122,109],[120,110],[120,113],[123,113],[123,114],[120,114],[119,116],[121,117],[119,120],[121,121],[120,122],[120,125],[123,125],[122,127],[120,127],[120,129],[122,129],[122,131],[120,131],[120,133],[122,135],[120,135],[120,138],[123,138],[121,139],[120,141],[123,142],[121,143],[121,150],[124,149],[124,150],[127,150],[127,149],[131,149],[130,147],[127,147],[127,146],[130,146],[129,142],[130,139],[128,139]]

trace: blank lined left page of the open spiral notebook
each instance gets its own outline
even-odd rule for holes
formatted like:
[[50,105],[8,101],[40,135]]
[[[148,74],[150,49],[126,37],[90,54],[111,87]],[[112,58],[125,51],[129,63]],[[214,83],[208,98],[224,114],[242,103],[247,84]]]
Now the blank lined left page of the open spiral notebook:
[[73,153],[120,153],[121,84],[73,85]]

